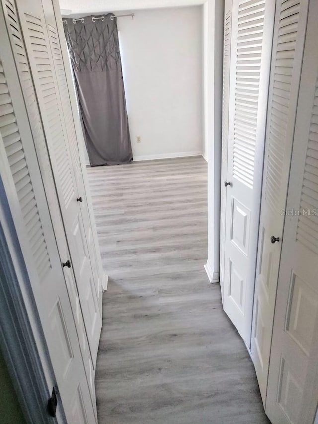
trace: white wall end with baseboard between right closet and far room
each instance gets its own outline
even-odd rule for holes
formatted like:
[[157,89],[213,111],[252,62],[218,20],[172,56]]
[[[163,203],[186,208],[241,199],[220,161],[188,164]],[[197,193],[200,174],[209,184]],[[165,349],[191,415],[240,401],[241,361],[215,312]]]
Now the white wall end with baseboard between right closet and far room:
[[210,283],[219,282],[223,27],[225,0],[203,1],[204,147],[208,161],[208,258]]

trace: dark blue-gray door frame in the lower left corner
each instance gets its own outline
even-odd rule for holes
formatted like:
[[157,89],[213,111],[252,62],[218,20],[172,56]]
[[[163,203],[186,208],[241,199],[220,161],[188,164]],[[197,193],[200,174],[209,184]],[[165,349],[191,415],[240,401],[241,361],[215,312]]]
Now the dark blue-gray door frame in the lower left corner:
[[62,402],[56,418],[47,401],[56,379],[44,332],[0,176],[0,350],[27,423],[65,423]]

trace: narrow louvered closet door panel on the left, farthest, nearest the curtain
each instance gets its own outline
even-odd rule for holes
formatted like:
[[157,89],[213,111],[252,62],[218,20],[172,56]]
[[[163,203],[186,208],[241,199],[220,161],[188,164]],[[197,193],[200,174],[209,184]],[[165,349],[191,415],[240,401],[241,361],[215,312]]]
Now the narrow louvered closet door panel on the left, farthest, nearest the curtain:
[[[89,218],[89,212],[88,212],[88,206],[87,206],[87,197],[85,193],[86,190],[85,190],[84,182],[83,182],[83,175],[82,175],[82,169],[81,169],[81,164],[79,159],[79,150],[78,150],[78,144],[76,139],[71,102],[69,97],[68,85],[66,81],[64,63],[63,63],[63,57],[62,57],[61,45],[60,45],[61,42],[65,43],[65,36],[63,33],[63,40],[59,40],[57,24],[56,24],[56,16],[54,14],[52,0],[42,0],[42,5],[44,10],[47,32],[48,32],[49,40],[50,40],[55,73],[56,73],[57,81],[58,81],[61,106],[62,106],[64,122],[65,122],[65,129],[67,132],[67,138],[68,138],[69,148],[70,148],[71,164],[73,166],[73,172],[74,172],[74,177],[75,177],[79,197],[81,197],[82,199],[82,202],[79,203],[79,206],[80,206],[81,216],[83,220],[83,228],[85,231],[86,242],[88,245],[88,253],[89,253],[89,258],[91,262],[91,269],[93,273],[93,281],[95,284],[95,290],[96,290],[96,294],[98,298],[98,306],[99,306],[99,310],[101,314],[102,291],[101,291],[101,281],[99,279],[100,275],[98,275],[101,272],[97,268],[97,263],[98,263],[98,260],[96,257],[97,253],[95,251],[95,244],[93,241],[92,228],[90,224],[90,218]],[[67,63],[66,66],[69,66],[69,63]]]

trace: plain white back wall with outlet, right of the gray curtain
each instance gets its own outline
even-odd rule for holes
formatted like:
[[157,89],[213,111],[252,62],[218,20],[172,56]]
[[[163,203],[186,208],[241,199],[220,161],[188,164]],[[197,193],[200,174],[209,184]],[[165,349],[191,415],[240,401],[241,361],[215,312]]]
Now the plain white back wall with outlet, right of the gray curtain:
[[117,25],[134,160],[202,154],[202,6],[137,10]]

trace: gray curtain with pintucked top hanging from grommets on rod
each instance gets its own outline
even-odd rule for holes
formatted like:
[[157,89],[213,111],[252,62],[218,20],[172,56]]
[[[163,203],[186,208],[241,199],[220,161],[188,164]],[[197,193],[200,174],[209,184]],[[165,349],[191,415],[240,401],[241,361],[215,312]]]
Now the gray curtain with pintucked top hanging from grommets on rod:
[[66,19],[84,135],[91,165],[126,164],[133,160],[121,68],[118,30],[112,14],[84,22]]

